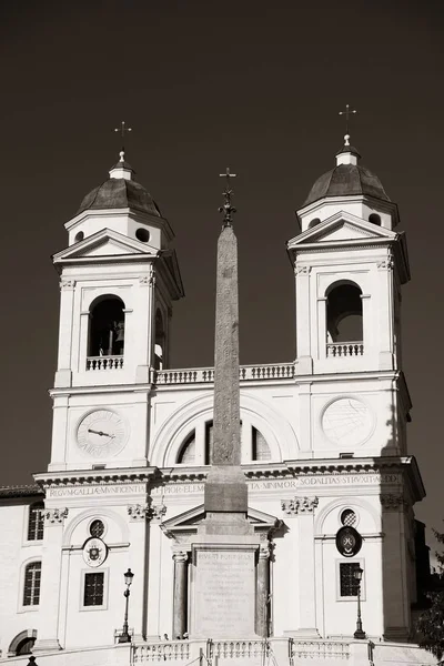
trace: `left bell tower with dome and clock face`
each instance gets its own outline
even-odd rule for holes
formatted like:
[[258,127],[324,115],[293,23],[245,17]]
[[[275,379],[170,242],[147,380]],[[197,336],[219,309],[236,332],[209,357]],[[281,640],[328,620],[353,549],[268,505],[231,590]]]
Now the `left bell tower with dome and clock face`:
[[173,231],[123,151],[65,229],[49,471],[147,465],[152,370],[183,296]]

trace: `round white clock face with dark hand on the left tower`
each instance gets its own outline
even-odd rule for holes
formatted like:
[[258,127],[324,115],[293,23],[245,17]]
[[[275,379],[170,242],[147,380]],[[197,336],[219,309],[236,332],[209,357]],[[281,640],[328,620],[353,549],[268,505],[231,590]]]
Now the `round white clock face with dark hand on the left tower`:
[[98,410],[82,418],[77,428],[77,443],[88,456],[103,458],[115,455],[127,443],[125,422],[111,410]]

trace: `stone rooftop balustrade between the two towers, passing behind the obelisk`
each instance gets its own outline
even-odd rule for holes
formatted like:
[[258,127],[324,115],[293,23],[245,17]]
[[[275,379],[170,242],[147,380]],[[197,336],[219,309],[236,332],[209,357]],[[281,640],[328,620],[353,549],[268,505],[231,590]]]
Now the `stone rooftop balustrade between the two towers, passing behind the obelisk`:
[[[242,365],[239,369],[240,381],[291,380],[294,377],[293,363],[266,365]],[[214,382],[213,367],[153,371],[153,384],[209,384]]]

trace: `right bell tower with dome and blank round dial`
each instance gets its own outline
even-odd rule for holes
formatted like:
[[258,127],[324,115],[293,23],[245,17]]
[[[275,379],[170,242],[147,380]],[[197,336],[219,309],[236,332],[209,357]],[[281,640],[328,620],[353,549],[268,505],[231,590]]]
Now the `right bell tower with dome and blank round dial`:
[[[410,280],[405,235],[394,231],[396,204],[360,160],[346,134],[335,168],[316,180],[297,210],[301,234],[287,244],[296,287],[296,374],[312,377],[312,410],[321,384],[331,398],[321,423],[307,425],[311,446],[334,457],[356,455],[364,444],[372,455],[402,454],[411,407],[401,371],[401,286]],[[349,422],[345,436],[341,420],[353,418],[354,410],[356,427]]]

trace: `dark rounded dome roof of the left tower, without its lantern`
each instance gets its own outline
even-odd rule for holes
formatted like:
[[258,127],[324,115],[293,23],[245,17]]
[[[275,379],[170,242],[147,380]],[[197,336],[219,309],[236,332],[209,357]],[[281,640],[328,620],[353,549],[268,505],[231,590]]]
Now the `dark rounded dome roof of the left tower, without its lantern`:
[[151,194],[133,180],[110,178],[83,198],[77,214],[89,209],[131,208],[143,213],[161,216]]

